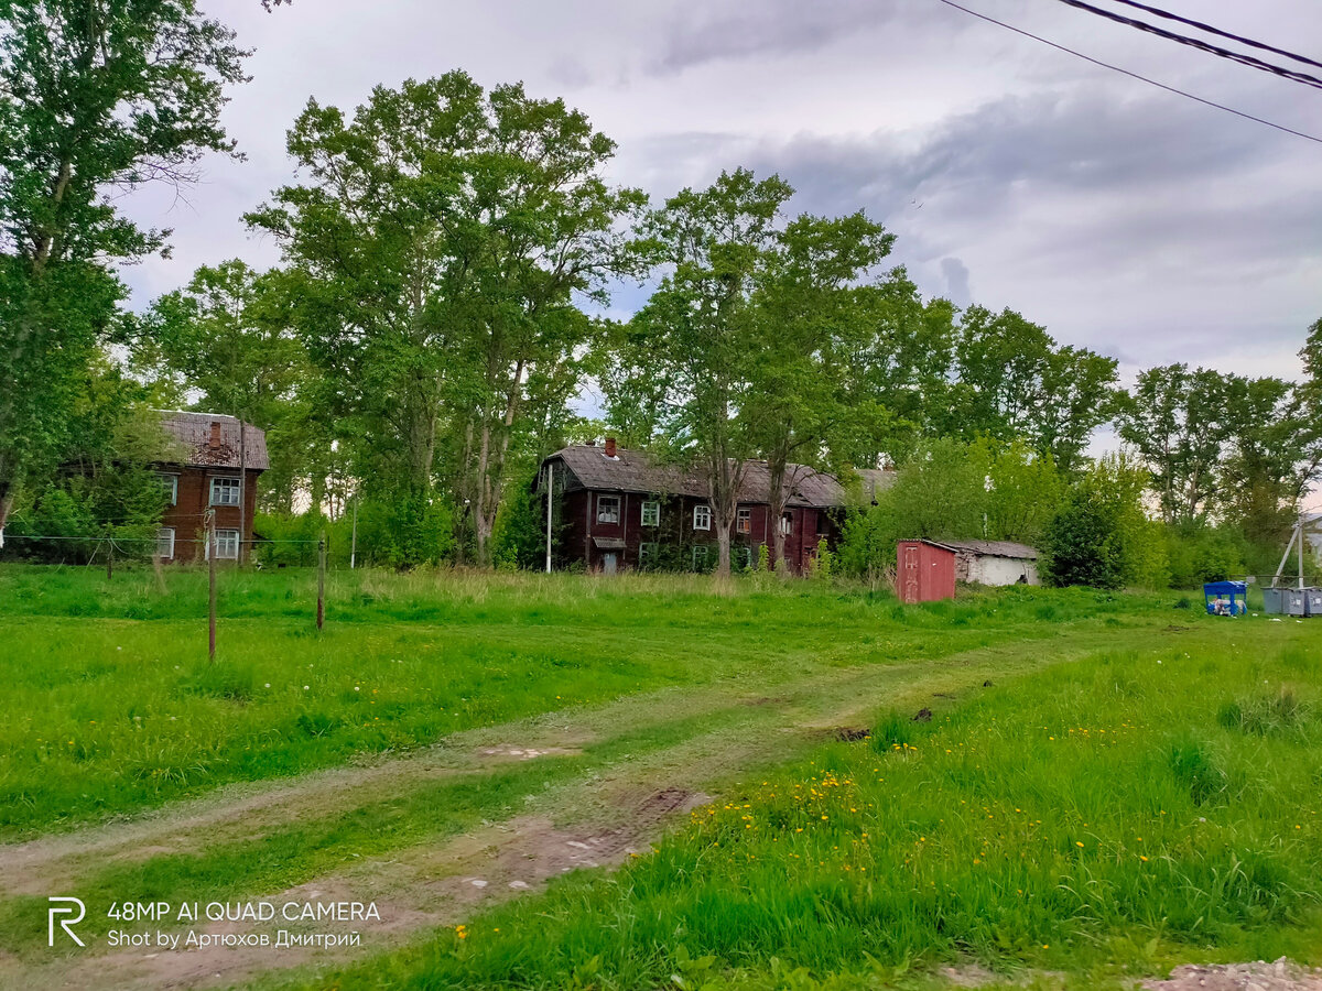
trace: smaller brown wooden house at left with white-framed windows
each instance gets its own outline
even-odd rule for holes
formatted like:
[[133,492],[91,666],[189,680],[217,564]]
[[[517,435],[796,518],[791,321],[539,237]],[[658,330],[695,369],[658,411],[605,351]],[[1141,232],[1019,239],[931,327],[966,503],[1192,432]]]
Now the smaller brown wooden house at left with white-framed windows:
[[233,416],[205,412],[163,412],[161,427],[176,441],[178,460],[156,465],[167,494],[157,556],[206,560],[205,517],[214,510],[217,560],[247,560],[256,480],[271,466],[266,433]]

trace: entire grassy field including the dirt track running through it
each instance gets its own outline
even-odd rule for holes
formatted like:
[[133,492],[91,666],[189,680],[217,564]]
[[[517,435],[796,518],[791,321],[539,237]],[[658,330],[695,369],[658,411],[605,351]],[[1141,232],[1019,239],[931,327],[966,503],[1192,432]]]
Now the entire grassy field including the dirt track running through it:
[[[212,665],[205,573],[0,568],[0,986],[940,987],[976,965],[1101,987],[1322,961],[1322,624],[1177,593],[340,572],[317,633],[313,591],[223,575]],[[612,836],[642,855],[561,877]],[[391,922],[320,961],[104,945],[126,897],[308,891]],[[52,955],[50,892],[87,902],[86,951]]]

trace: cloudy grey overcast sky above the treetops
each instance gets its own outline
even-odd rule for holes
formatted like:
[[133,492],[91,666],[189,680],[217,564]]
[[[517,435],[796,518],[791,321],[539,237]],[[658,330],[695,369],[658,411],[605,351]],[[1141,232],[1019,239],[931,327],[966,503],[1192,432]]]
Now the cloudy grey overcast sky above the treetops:
[[[1322,91],[1054,0],[962,0],[1026,30],[1300,131]],[[1100,0],[1105,5],[1107,0]],[[1166,0],[1322,57],[1317,0]],[[208,160],[176,200],[173,258],[126,272],[134,305],[198,264],[278,260],[241,214],[291,178],[284,136],[309,96],[464,69],[564,96],[619,143],[612,177],[662,200],[723,168],[779,172],[796,210],[866,209],[928,295],[1010,307],[1126,378],[1186,361],[1296,377],[1322,317],[1322,144],[1099,69],[939,0],[212,0],[255,49],[225,123],[245,163]],[[628,312],[636,293],[621,293]]]

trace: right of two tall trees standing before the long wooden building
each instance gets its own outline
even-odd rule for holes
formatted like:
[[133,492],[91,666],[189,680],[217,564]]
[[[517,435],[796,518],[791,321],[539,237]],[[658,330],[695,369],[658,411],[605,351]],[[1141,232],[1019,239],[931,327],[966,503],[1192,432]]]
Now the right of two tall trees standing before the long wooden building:
[[849,388],[850,355],[869,337],[855,283],[890,252],[895,235],[862,213],[802,215],[776,237],[758,277],[756,349],[744,415],[767,461],[771,559],[781,566],[779,521],[806,470],[838,469],[859,439],[875,439],[886,410]]

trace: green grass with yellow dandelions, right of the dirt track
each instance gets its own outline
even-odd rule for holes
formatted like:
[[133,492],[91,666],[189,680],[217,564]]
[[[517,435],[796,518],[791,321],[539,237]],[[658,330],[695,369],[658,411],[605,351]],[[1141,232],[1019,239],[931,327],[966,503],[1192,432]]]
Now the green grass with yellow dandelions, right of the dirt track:
[[1188,958],[1315,963],[1322,629],[1224,630],[931,723],[879,712],[873,739],[727,791],[616,875],[297,986],[845,988],[976,961],[1099,987]]

